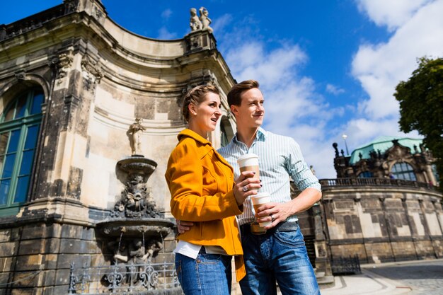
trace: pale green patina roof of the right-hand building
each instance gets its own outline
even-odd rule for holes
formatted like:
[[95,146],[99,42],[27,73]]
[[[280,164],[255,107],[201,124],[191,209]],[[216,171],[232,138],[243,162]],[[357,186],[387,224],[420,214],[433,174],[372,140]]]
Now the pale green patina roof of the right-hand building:
[[359,148],[352,151],[350,164],[355,164],[360,161],[358,154],[362,154],[362,158],[371,158],[369,156],[370,151],[379,151],[383,154],[387,149],[393,146],[392,141],[394,139],[398,139],[398,143],[402,146],[406,146],[410,149],[411,152],[414,152],[414,145],[417,146],[420,151],[420,144],[422,143],[422,139],[413,139],[413,138],[399,138],[399,137],[377,137],[373,141],[369,142],[369,144],[364,144]]

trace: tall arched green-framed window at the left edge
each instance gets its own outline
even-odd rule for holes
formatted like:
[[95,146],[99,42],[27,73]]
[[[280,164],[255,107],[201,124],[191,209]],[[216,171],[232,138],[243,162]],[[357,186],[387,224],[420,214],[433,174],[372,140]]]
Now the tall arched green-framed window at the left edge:
[[13,99],[0,117],[0,215],[28,198],[43,93],[31,89]]

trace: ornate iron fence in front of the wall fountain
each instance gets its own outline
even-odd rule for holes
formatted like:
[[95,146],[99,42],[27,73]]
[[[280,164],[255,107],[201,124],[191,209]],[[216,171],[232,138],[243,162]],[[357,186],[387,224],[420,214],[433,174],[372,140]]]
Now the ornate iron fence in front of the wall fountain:
[[174,263],[75,267],[68,294],[181,294]]

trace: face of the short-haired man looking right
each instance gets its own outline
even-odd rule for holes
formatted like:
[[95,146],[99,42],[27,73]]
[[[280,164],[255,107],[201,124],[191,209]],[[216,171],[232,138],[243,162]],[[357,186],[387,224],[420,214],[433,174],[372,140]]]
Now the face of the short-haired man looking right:
[[241,127],[258,128],[263,124],[265,99],[258,88],[252,88],[241,93],[241,104],[231,105],[231,111],[236,116],[237,125]]

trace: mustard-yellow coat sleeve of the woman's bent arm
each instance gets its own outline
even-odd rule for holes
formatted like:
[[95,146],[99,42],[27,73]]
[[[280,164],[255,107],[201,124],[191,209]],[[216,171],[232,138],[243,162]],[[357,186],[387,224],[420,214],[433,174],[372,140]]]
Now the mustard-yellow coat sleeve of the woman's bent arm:
[[241,214],[232,190],[233,180],[220,179],[225,185],[229,181],[228,192],[209,192],[207,195],[203,187],[204,173],[213,173],[210,166],[217,160],[212,159],[203,168],[201,150],[199,153],[195,141],[184,141],[172,152],[165,175],[171,191],[171,214],[186,221],[211,221]]

